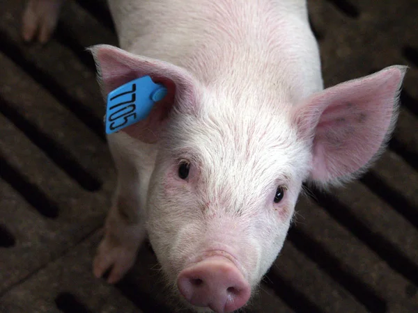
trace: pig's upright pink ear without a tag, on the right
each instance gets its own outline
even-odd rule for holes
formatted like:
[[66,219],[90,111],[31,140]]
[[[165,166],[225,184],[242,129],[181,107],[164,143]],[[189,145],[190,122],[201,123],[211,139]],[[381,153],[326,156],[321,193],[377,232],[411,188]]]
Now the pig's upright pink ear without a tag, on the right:
[[311,182],[340,184],[369,166],[394,128],[405,71],[403,66],[387,67],[295,106],[298,130],[312,143]]

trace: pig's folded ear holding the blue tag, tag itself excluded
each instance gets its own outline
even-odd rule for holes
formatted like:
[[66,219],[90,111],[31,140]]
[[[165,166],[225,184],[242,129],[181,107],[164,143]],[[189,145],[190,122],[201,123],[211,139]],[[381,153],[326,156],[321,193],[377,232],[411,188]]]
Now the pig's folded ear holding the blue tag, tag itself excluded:
[[90,48],[98,70],[98,81],[104,98],[123,84],[150,76],[155,83],[162,83],[168,90],[167,96],[155,103],[145,120],[125,127],[121,131],[144,141],[155,143],[167,122],[173,106],[182,106],[183,111],[193,110],[196,105],[196,81],[185,69],[144,56],[131,54],[110,45]]

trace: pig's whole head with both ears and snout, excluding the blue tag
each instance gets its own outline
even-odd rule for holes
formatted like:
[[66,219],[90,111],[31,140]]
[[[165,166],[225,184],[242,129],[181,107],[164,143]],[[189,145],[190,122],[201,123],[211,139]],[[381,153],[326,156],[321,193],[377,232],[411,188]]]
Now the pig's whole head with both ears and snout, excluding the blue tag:
[[158,148],[150,242],[169,284],[201,312],[247,303],[283,246],[303,182],[340,183],[369,165],[394,125],[405,72],[388,67],[292,104],[251,83],[205,86],[114,47],[93,54],[105,94],[144,75],[169,90],[123,131]]

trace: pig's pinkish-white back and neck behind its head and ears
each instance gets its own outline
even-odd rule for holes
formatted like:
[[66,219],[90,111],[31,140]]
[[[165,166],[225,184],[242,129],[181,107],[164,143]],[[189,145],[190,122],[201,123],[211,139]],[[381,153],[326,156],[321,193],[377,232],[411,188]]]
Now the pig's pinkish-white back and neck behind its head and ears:
[[254,83],[286,102],[323,88],[305,1],[156,2],[109,1],[123,49],[185,67],[206,86]]

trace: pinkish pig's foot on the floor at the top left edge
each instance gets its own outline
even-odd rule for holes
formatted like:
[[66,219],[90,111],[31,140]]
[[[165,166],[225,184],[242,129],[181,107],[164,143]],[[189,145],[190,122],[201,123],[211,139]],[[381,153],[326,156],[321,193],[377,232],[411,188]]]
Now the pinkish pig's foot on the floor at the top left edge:
[[63,0],[29,0],[22,20],[24,40],[31,41],[38,35],[38,41],[45,43],[54,32]]

